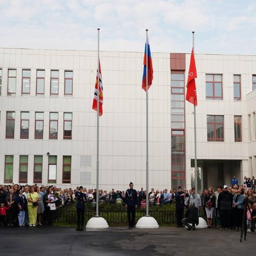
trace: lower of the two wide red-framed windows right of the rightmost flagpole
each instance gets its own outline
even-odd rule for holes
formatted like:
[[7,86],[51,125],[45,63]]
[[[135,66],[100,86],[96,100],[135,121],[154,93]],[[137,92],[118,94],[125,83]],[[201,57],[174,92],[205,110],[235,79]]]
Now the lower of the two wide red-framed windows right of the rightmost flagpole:
[[224,141],[224,116],[207,116],[207,141]]

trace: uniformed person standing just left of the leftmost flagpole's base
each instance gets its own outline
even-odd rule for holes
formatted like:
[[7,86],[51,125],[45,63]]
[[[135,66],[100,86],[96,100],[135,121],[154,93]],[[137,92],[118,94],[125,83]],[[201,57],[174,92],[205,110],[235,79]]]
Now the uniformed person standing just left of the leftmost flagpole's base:
[[76,213],[77,213],[77,231],[83,231],[83,223],[85,222],[85,201],[86,194],[83,193],[83,187],[80,186],[76,191]]

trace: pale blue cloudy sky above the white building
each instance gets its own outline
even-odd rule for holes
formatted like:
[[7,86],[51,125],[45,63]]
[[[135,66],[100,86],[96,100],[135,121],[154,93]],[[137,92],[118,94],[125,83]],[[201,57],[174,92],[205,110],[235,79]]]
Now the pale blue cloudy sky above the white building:
[[0,0],[0,47],[256,55],[254,0]]

